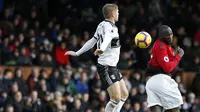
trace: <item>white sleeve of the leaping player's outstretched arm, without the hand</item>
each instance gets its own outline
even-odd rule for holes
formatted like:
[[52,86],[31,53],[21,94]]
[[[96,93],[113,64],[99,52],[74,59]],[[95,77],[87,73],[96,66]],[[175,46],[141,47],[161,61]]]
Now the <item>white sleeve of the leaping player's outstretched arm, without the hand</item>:
[[97,43],[97,40],[95,38],[91,38],[90,40],[88,40],[81,49],[79,49],[76,52],[76,55],[79,56],[85,52],[87,52],[89,49],[91,49],[92,47],[94,47],[94,45]]

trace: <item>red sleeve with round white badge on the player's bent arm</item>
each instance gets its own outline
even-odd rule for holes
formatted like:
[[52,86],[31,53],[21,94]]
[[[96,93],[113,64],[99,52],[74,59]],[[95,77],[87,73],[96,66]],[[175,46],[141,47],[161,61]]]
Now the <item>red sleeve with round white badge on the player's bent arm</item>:
[[166,47],[158,47],[156,51],[156,57],[159,65],[162,67],[164,72],[170,73],[172,70],[176,68],[178,63],[181,60],[181,57],[179,55],[176,55],[173,60],[169,60],[168,54],[167,54],[167,48]]

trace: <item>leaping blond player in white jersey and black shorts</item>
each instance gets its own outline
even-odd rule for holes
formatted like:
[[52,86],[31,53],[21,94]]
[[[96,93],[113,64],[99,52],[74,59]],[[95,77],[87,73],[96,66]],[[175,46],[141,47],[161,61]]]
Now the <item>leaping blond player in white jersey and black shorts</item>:
[[65,55],[79,56],[97,44],[94,54],[99,56],[98,74],[110,96],[105,112],[120,112],[129,93],[120,71],[116,68],[121,47],[118,28],[115,25],[119,17],[118,6],[106,4],[102,8],[102,12],[105,20],[98,25],[94,36],[77,52],[67,51]]

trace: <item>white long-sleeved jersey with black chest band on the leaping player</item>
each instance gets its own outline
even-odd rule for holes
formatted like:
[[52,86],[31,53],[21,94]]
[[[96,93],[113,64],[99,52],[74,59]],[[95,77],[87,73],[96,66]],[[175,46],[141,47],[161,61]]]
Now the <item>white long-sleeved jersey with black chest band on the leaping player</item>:
[[120,41],[118,28],[108,20],[102,21],[94,34],[94,37],[88,40],[81,49],[76,52],[79,56],[91,49],[97,43],[97,49],[103,53],[99,55],[98,63],[105,66],[116,66],[120,55]]

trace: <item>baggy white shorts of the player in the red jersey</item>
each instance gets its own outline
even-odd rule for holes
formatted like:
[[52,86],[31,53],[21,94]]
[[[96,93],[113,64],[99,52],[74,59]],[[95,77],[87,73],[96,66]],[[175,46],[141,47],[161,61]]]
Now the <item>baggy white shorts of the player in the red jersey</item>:
[[148,107],[159,105],[168,110],[183,104],[178,84],[165,74],[152,76],[146,83],[146,92]]

